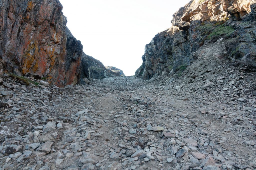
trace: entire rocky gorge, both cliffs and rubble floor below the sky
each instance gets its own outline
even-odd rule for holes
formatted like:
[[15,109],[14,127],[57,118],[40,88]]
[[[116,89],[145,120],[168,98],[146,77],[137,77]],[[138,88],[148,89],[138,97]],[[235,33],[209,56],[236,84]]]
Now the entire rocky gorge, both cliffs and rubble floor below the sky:
[[0,170],[256,169],[255,0],[190,1],[134,76],[62,8],[0,0]]

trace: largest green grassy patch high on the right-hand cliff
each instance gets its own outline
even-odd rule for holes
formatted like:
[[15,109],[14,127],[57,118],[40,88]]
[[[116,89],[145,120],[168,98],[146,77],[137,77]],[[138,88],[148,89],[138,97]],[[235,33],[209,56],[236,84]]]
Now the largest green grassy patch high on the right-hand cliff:
[[230,36],[234,32],[234,29],[230,26],[220,25],[216,27],[208,36],[208,40],[218,38],[222,35]]

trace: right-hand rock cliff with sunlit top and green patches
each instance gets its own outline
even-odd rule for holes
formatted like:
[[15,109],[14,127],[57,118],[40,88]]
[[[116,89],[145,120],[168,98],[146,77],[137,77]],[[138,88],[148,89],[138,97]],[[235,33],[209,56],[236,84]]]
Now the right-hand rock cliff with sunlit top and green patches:
[[172,27],[145,46],[137,77],[177,77],[197,59],[256,66],[256,1],[194,0],[173,15]]

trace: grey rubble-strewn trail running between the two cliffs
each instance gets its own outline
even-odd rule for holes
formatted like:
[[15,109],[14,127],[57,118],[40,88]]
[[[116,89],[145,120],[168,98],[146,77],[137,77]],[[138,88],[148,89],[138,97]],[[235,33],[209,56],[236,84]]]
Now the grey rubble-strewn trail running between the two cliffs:
[[65,88],[2,78],[1,170],[256,168],[255,116],[214,95],[133,76]]

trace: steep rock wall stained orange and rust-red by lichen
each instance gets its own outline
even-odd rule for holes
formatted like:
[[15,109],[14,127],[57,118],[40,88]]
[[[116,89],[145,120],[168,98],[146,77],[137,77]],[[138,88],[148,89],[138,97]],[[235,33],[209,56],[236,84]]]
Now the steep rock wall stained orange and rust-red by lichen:
[[0,1],[0,70],[45,78],[50,84],[76,84],[84,77],[111,75],[83,53],[66,27],[58,0]]

